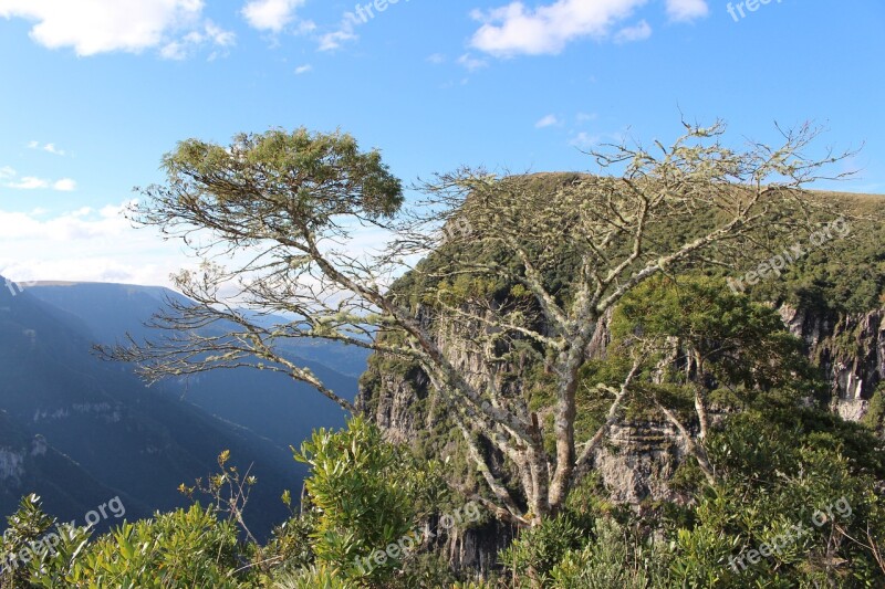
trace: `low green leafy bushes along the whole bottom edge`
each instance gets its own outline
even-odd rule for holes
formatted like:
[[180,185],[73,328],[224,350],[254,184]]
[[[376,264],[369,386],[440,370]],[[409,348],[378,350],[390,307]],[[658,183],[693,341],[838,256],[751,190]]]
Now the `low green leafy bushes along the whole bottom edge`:
[[[433,502],[445,501],[428,473],[357,418],[304,444],[298,455],[311,465],[312,503],[263,549],[239,543],[233,522],[196,504],[124,523],[91,543],[87,529],[59,526],[54,551],[32,559],[15,578],[3,577],[3,587],[785,589],[885,582],[877,562],[885,548],[877,491],[885,449],[867,428],[772,391],[722,419],[708,449],[721,483],[704,487],[694,503],[621,508],[589,477],[563,514],[522,530],[501,553],[506,569],[497,585],[457,585],[442,555],[433,551],[369,571],[347,558],[384,549]],[[29,496],[9,524],[4,554],[45,537],[53,520]],[[781,543],[795,524],[808,532]],[[746,558],[775,545],[757,562]],[[250,566],[259,549],[273,564],[268,572]]]

